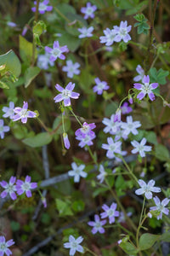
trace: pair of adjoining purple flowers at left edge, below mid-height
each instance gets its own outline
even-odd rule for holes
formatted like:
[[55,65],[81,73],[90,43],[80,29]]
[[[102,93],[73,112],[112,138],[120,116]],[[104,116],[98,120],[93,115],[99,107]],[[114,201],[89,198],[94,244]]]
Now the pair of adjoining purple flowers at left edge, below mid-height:
[[26,192],[26,196],[31,197],[31,189],[37,188],[37,183],[31,183],[31,177],[28,175],[26,176],[25,181],[20,179],[16,180],[16,177],[12,176],[8,183],[6,181],[2,181],[0,182],[0,185],[4,189],[1,193],[1,197],[4,198],[9,195],[12,200],[17,199],[16,193],[18,195],[22,195]]

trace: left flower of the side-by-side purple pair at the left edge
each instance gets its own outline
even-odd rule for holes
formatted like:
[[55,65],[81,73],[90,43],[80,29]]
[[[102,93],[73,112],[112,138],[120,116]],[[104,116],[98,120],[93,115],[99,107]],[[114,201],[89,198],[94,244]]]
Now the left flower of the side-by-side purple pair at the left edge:
[[9,183],[7,183],[6,181],[2,181],[0,182],[0,185],[3,187],[3,192],[1,193],[1,197],[5,198],[8,194],[10,195],[12,200],[16,200],[16,186],[14,185],[16,181],[16,177],[12,176],[9,179]]

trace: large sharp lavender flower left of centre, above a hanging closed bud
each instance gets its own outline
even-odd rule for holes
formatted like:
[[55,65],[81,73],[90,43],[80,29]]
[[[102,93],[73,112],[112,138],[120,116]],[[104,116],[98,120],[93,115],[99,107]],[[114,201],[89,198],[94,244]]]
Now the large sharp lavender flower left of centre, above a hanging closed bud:
[[59,95],[54,97],[55,102],[61,102],[64,101],[65,107],[71,106],[71,99],[77,99],[80,94],[77,92],[72,91],[75,88],[75,84],[72,84],[71,82],[66,85],[65,89],[61,87],[59,84],[55,85],[55,88],[59,90]]

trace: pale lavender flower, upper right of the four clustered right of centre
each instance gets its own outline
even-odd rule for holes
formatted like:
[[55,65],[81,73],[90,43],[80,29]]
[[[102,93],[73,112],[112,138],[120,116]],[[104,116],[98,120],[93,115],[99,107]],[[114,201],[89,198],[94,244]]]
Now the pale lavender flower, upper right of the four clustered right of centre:
[[133,117],[127,116],[127,123],[122,122],[122,129],[124,130],[125,135],[129,135],[129,133],[133,133],[133,135],[137,135],[139,132],[137,131],[137,128],[141,126],[139,121],[133,122]]

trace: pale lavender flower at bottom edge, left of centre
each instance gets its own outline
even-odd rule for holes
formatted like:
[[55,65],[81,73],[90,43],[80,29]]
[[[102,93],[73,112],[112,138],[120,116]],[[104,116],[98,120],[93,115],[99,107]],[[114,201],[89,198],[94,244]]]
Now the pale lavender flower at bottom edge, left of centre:
[[77,239],[75,239],[74,236],[69,236],[69,242],[64,243],[65,248],[70,248],[70,255],[73,256],[76,252],[83,253],[83,247],[80,245],[83,238],[82,236],[79,236]]

